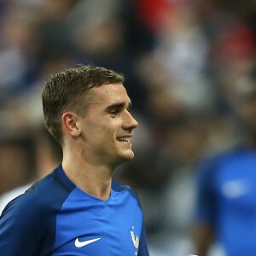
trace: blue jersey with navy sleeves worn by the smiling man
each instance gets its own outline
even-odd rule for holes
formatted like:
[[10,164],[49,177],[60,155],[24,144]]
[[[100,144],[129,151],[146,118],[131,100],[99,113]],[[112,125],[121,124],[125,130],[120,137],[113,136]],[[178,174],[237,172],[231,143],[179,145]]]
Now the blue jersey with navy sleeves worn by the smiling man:
[[136,193],[112,183],[102,201],[76,187],[59,166],[10,201],[0,218],[8,256],[148,256]]

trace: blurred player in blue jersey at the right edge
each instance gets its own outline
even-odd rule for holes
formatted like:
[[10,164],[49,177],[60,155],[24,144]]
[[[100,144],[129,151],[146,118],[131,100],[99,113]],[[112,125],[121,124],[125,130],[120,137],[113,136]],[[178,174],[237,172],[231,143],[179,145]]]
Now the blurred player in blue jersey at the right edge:
[[256,255],[255,71],[239,79],[232,91],[232,106],[247,138],[201,163],[195,225],[200,256],[208,255],[212,241],[225,256]]

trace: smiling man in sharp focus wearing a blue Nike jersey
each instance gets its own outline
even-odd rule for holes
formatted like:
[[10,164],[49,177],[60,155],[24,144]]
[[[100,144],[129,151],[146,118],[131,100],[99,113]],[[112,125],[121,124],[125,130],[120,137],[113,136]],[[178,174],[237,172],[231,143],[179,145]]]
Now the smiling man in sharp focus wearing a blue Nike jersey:
[[45,84],[43,108],[63,159],[11,201],[0,218],[0,252],[8,256],[148,256],[136,193],[112,180],[133,159],[137,121],[119,73],[84,66]]

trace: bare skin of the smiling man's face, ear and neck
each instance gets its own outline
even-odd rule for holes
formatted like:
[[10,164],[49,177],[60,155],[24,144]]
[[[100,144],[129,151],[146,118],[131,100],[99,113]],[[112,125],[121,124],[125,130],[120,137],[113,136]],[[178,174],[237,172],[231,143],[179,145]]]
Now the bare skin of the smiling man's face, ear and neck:
[[107,200],[116,166],[132,160],[131,137],[137,120],[130,113],[131,100],[122,84],[103,84],[92,88],[83,116],[62,115],[63,160],[67,177],[84,192]]

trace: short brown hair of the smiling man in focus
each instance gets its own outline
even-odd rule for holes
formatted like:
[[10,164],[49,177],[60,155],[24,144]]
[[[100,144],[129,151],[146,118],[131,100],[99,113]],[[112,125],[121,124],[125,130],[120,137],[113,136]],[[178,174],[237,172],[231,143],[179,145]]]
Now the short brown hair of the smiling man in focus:
[[110,83],[123,84],[124,80],[122,74],[111,69],[90,65],[51,75],[42,93],[44,121],[49,133],[62,145],[62,114],[67,110],[79,113],[85,105],[81,104],[81,96],[90,88]]

